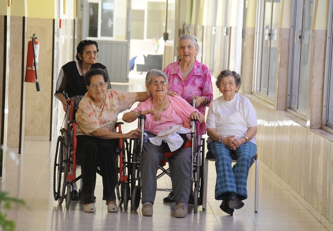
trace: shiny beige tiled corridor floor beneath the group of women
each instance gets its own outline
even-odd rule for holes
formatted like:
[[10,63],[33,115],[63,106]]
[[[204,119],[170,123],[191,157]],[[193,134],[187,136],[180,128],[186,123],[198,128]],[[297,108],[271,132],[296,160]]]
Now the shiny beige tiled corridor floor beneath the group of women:
[[[142,82],[143,77],[136,75],[130,79],[130,83],[113,83],[112,86],[124,91],[144,91]],[[135,122],[124,124],[123,131],[135,126]],[[65,202],[59,205],[53,199],[54,152],[55,139],[51,142],[26,141],[23,154],[7,155],[7,173],[0,178],[1,190],[26,202],[25,206],[14,205],[5,211],[7,218],[16,222],[17,230],[327,230],[262,168],[259,177],[259,212],[255,213],[254,166],[248,177],[245,206],[235,211],[234,216],[225,214],[219,208],[220,201],[214,199],[216,173],[212,162],[209,164],[207,208],[203,211],[200,206],[198,213],[194,214],[193,206],[189,206],[186,218],[174,218],[175,204],[163,203],[162,198],[167,192],[157,192],[153,217],[142,217],[141,208],[131,212],[124,211],[121,206],[118,213],[108,213],[107,206],[101,200],[101,177],[97,177],[95,190],[96,213],[84,213],[82,205],[76,201],[72,201],[70,209],[66,210]],[[170,185],[171,180],[166,177],[158,180],[158,186]]]

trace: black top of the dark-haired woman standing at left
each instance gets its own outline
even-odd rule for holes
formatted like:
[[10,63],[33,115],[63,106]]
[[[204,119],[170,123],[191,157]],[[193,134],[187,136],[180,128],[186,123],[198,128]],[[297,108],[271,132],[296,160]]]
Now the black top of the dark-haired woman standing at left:
[[[91,65],[91,69],[93,68],[101,68],[108,73],[107,67],[99,62]],[[110,89],[110,79],[108,82],[108,89]],[[77,95],[84,96],[87,91],[85,78],[83,75],[80,75],[77,61],[70,61],[61,67],[54,94],[55,97],[57,97],[57,93],[63,93],[66,99]]]

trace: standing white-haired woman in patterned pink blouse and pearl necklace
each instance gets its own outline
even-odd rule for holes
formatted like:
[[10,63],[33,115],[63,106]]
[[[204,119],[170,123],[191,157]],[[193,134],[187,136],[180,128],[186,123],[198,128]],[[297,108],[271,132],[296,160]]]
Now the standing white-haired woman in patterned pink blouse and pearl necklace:
[[[176,48],[179,60],[172,62],[163,70],[169,79],[168,91],[178,94],[189,103],[192,103],[192,99],[195,98],[197,109],[205,115],[206,107],[209,107],[210,102],[213,101],[213,86],[209,68],[196,60],[200,50],[197,37],[192,34],[183,34],[178,38]],[[198,135],[206,134],[205,122],[197,124],[197,128]],[[163,201],[174,202],[173,192]]]

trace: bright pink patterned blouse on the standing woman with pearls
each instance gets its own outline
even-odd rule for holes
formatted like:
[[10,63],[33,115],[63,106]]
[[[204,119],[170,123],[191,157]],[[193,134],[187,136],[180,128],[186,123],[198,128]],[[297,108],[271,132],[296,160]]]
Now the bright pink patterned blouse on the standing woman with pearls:
[[[198,60],[195,61],[193,70],[190,72],[185,81],[180,74],[178,68],[179,61],[173,62],[164,68],[163,72],[168,76],[169,84],[168,91],[177,92],[183,99],[191,103],[193,96],[206,96],[213,101],[213,86],[212,77],[209,68],[201,64]],[[209,103],[198,107],[199,112],[203,115],[206,112],[206,107]],[[206,133],[206,123],[202,122],[198,125],[198,133],[203,135]]]

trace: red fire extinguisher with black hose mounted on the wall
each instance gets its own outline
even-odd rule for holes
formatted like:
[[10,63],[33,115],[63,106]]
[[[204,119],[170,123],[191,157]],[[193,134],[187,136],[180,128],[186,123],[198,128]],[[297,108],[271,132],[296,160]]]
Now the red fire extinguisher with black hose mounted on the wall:
[[35,82],[37,92],[40,91],[40,86],[37,78],[38,68],[38,55],[39,55],[39,43],[35,34],[32,35],[31,41],[28,42],[28,54],[27,54],[27,70],[26,70],[26,82]]

